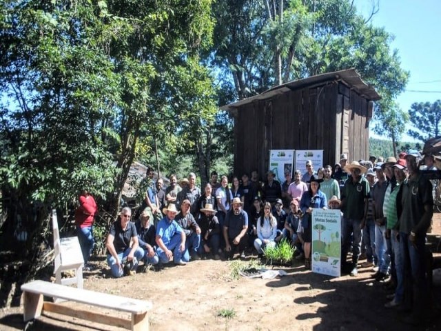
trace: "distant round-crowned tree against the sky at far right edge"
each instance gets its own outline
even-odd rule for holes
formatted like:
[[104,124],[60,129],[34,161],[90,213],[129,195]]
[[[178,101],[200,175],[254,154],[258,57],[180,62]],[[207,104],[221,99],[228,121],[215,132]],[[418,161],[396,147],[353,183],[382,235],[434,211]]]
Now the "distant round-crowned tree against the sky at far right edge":
[[409,135],[422,142],[440,136],[441,100],[434,103],[412,103],[409,117],[417,130],[409,130]]

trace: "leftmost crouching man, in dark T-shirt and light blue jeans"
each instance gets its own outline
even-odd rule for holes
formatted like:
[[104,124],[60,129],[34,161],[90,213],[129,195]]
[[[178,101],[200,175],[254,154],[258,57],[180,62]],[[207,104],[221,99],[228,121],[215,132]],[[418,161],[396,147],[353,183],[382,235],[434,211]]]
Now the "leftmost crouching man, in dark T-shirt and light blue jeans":
[[135,224],[130,221],[130,217],[132,210],[129,207],[123,208],[120,219],[114,221],[105,241],[107,265],[114,277],[136,272],[138,261],[144,257],[144,251],[139,248]]

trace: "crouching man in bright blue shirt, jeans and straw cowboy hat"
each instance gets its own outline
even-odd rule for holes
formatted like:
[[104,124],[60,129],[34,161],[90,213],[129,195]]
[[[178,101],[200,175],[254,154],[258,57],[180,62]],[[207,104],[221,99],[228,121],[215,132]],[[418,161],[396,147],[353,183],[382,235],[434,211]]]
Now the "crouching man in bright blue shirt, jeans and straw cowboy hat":
[[185,250],[185,232],[174,218],[178,214],[176,205],[170,203],[163,209],[165,217],[158,222],[156,228],[156,250],[162,263],[174,261],[177,265],[185,265],[189,261],[189,254]]

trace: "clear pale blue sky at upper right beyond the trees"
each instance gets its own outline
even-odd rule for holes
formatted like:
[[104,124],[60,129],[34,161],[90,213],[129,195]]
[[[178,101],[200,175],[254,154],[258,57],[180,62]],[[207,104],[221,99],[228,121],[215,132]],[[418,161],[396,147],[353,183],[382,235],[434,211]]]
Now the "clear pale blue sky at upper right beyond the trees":
[[[356,0],[358,10],[368,14],[372,0]],[[410,72],[406,90],[396,101],[407,111],[414,102],[441,99],[441,1],[378,0],[380,10],[373,26],[395,36],[391,49],[398,49],[401,67]],[[373,132],[371,137],[378,137]],[[413,141],[407,134],[402,141]]]

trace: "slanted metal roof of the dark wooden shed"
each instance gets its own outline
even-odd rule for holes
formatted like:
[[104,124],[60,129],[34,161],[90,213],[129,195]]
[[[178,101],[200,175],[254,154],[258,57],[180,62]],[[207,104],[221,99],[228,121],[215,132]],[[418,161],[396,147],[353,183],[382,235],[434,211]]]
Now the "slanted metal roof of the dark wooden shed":
[[362,81],[360,75],[356,72],[355,69],[347,69],[335,72],[327,72],[326,74],[317,74],[316,76],[299,79],[298,81],[290,81],[279,86],[274,86],[274,88],[270,88],[265,92],[254,95],[253,97],[249,97],[247,99],[230,103],[229,105],[222,106],[220,107],[220,109],[233,111],[236,110],[238,107],[246,105],[247,103],[251,103],[253,101],[272,99],[278,94],[284,94],[291,90],[297,90],[299,88],[304,88],[305,86],[325,83],[327,81],[341,81],[369,101],[377,101],[381,99],[380,95],[376,92],[376,90],[373,89],[372,86],[369,86],[364,81]]

